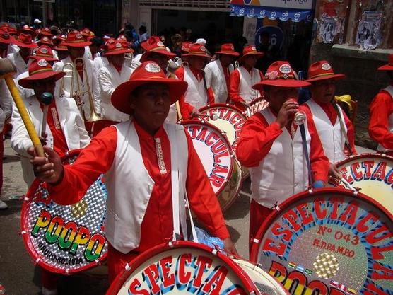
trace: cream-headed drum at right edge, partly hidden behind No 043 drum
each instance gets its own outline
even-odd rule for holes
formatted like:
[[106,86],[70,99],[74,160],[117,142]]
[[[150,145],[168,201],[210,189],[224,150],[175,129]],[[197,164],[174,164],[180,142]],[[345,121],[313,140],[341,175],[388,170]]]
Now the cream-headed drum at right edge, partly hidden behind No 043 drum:
[[[381,154],[359,154],[336,163],[347,183],[375,199],[393,214],[393,157]],[[346,187],[337,180],[330,185]]]

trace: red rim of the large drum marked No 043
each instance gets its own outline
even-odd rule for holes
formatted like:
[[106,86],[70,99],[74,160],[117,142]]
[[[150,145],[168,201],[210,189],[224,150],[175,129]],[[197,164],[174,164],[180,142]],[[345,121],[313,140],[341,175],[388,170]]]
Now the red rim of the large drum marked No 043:
[[346,190],[341,187],[323,187],[319,189],[314,189],[312,192],[309,190],[305,190],[303,192],[298,192],[298,194],[295,194],[288,199],[286,199],[284,202],[279,204],[280,210],[274,210],[269,214],[269,216],[266,217],[262,225],[259,227],[259,230],[257,231],[257,234],[254,238],[258,240],[258,243],[253,243],[252,249],[251,249],[251,254],[250,254],[250,261],[254,263],[258,263],[258,252],[259,252],[259,245],[262,241],[262,233],[266,233],[266,230],[269,228],[271,225],[271,221],[274,221],[276,217],[283,212],[284,209],[287,209],[295,200],[300,199],[301,197],[305,196],[310,196],[310,195],[315,195],[317,193],[326,195],[330,193],[341,193],[342,195],[347,195],[347,196],[355,196],[357,199],[362,199],[363,201],[370,202],[372,203],[377,209],[380,209],[382,213],[385,213],[388,219],[393,220],[392,214],[379,202],[377,202],[375,199],[369,197],[368,195],[365,195],[361,192],[354,192],[352,190]]

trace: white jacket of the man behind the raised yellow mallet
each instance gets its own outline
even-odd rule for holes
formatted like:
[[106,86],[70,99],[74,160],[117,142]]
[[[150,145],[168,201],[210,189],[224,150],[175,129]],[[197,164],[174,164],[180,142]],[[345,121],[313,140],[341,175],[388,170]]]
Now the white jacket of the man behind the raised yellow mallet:
[[[22,99],[28,110],[30,119],[33,122],[35,131],[39,133],[41,131],[42,121],[42,110],[39,101],[35,96],[30,96],[28,98],[22,97]],[[75,100],[65,97],[55,97],[54,99],[59,115],[60,126],[66,138],[69,150],[83,148],[90,142],[90,137],[85,129],[85,124],[79,114],[79,110],[76,107]],[[29,161],[31,156],[27,153],[27,150],[30,146],[33,146],[33,143],[28,136],[28,132],[15,105],[13,105],[12,125],[11,147],[20,154],[23,179],[25,183],[30,186],[35,176],[33,173],[33,165],[31,165]],[[47,146],[53,148],[53,137],[49,126],[47,126]]]

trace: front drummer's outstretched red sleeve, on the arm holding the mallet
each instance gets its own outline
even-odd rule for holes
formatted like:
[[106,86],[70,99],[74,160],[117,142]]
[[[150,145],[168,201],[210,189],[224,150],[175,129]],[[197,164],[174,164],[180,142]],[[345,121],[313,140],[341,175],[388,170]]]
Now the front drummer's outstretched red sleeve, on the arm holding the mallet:
[[112,166],[116,146],[115,127],[107,127],[94,137],[81,151],[74,164],[64,166],[61,183],[48,185],[49,194],[54,202],[69,205],[81,200],[98,176]]

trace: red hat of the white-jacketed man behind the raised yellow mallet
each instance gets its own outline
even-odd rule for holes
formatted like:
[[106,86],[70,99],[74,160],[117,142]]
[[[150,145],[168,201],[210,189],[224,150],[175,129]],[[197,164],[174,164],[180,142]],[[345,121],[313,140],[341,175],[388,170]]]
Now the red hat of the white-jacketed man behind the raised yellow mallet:
[[29,66],[29,76],[18,81],[23,88],[33,88],[33,82],[47,79],[52,76],[57,80],[61,79],[66,73],[64,71],[54,71],[52,66],[45,59],[38,59]]

